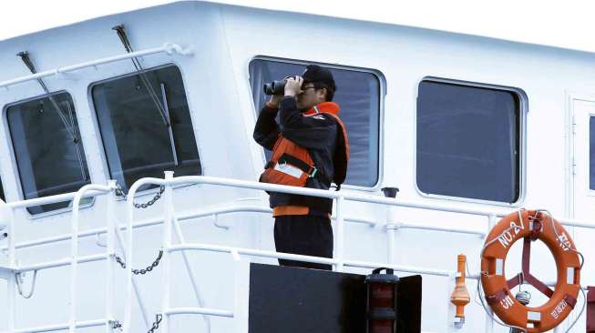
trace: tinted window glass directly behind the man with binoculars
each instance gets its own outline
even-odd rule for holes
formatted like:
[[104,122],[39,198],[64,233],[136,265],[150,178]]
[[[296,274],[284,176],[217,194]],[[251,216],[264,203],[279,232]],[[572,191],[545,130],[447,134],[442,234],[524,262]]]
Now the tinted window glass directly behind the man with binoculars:
[[[260,112],[270,96],[262,86],[285,76],[300,75],[305,66],[272,60],[253,60],[250,64],[252,97]],[[339,116],[347,127],[351,158],[345,184],[373,187],[378,182],[378,125],[380,119],[380,81],[369,72],[330,68],[337,91],[333,102],[341,106]],[[271,152],[265,150],[267,158]]]

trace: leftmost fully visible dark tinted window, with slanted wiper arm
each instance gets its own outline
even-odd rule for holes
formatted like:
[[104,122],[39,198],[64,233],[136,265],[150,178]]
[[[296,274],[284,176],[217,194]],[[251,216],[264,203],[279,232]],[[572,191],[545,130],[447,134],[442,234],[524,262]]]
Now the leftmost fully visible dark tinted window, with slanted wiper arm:
[[[26,199],[75,192],[88,183],[77,115],[67,93],[39,97],[6,109],[18,174]],[[31,207],[31,214],[69,206]]]

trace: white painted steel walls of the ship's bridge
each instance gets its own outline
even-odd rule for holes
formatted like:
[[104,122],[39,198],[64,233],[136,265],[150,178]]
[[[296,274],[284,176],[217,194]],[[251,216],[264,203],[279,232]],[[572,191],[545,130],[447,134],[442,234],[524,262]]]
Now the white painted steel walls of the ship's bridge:
[[[146,54],[122,55],[118,37],[110,30],[120,23],[126,23],[135,49],[145,50],[140,52]],[[275,28],[281,26],[284,28]],[[308,38],[309,35],[320,38]],[[180,45],[180,53],[169,49],[173,53],[168,55],[165,46],[153,48],[168,41]],[[190,45],[193,56],[183,55]],[[456,256],[467,255],[471,273],[467,282],[474,298],[473,277],[477,278],[482,237],[486,237],[498,217],[519,207],[548,207],[569,227],[569,233],[588,258],[582,271],[583,282],[594,283],[595,275],[591,272],[595,267],[589,257],[595,254],[595,245],[589,239],[595,237],[595,224],[590,222],[595,211],[580,204],[590,202],[592,197],[589,191],[577,189],[585,184],[574,176],[575,171],[580,172],[580,179],[584,179],[588,166],[573,166],[576,154],[582,152],[580,157],[584,158],[589,145],[584,139],[575,140],[574,125],[569,120],[574,109],[569,101],[585,99],[590,94],[584,92],[595,89],[595,55],[398,25],[179,3],[0,42],[3,108],[42,94],[36,82],[30,81],[36,76],[27,76],[26,68],[15,57],[24,48],[32,55],[49,89],[67,91],[72,96],[93,184],[107,184],[110,176],[89,86],[132,73],[129,56],[139,56],[146,68],[178,66],[202,170],[208,177],[174,178],[170,185],[174,188],[171,200],[175,212],[169,218],[163,216],[165,206],[169,206],[164,205],[165,199],[147,210],[134,214],[130,211],[132,200],[146,202],[154,195],[152,190],[137,195],[133,191],[128,202],[116,200],[111,192],[101,195],[91,191],[83,196],[98,196],[90,206],[32,217],[25,207],[72,200],[76,194],[22,200],[23,190],[4,118],[0,122],[0,176],[9,211],[3,210],[0,225],[6,224],[3,231],[10,237],[0,240],[0,250],[6,253],[5,257],[0,255],[0,266],[31,272],[28,277],[36,269],[40,273],[34,297],[29,300],[18,297],[14,275],[0,280],[0,299],[6,299],[0,302],[0,331],[72,326],[67,296],[73,291],[66,281],[75,275],[71,275],[69,266],[76,267],[77,273],[77,320],[106,317],[135,331],[150,327],[154,315],[164,309],[235,311],[235,290],[211,287],[235,285],[231,278],[235,260],[250,257],[274,264],[275,257],[286,256],[274,253],[271,209],[262,193],[262,189],[278,187],[252,182],[264,164],[262,148],[251,139],[255,110],[248,66],[257,55],[372,68],[383,76],[387,95],[382,96],[378,133],[379,146],[383,147],[378,184],[345,185],[340,192],[288,189],[292,193],[344,201],[342,209],[333,214],[336,257],[319,262],[360,274],[379,266],[394,267],[402,274],[423,274],[424,331],[504,332],[506,328],[494,326],[475,302],[466,309],[464,327],[451,327],[448,317],[452,308],[445,297],[449,292],[446,286],[452,283]],[[518,203],[498,205],[455,197],[424,197],[416,191],[416,89],[425,76],[514,86],[527,93],[527,149],[523,152],[526,177]],[[584,120],[581,121],[584,132]],[[203,184],[188,186],[185,182],[189,180]],[[143,181],[165,184],[163,179]],[[382,195],[381,187],[399,187],[400,191],[396,199],[389,199]],[[384,207],[394,209],[394,217],[387,218]],[[74,215],[80,222],[77,226],[72,224]],[[169,227],[164,220],[171,223]],[[146,267],[154,259],[165,241],[161,230],[166,228],[175,232],[177,237],[173,238],[178,239],[173,242],[169,237],[169,265],[173,272],[169,277],[169,307],[160,293],[165,288],[162,278],[168,278],[163,267],[149,276],[133,278],[131,274],[132,267]],[[73,235],[74,229],[77,233]],[[73,251],[68,243],[71,238],[78,238]],[[117,246],[118,238],[121,248]],[[107,247],[100,246],[101,241]],[[186,247],[188,250],[182,251]],[[518,259],[519,263],[519,253],[515,254],[514,248],[511,251],[507,261]],[[114,254],[123,257],[128,269],[114,265]],[[539,278],[551,281],[555,276],[547,260],[549,254],[537,255],[532,269],[538,270]],[[514,265],[505,267],[507,272],[515,269]],[[109,287],[112,276],[115,282]],[[50,307],[54,311],[46,311]],[[166,322],[169,320],[170,331],[233,331],[235,318],[207,318],[175,315]],[[584,331],[584,317],[582,320],[572,332]],[[67,324],[56,326],[56,322]],[[105,321],[96,323],[100,322]],[[81,323],[77,321],[75,325]],[[107,330],[98,326],[85,331]]]

